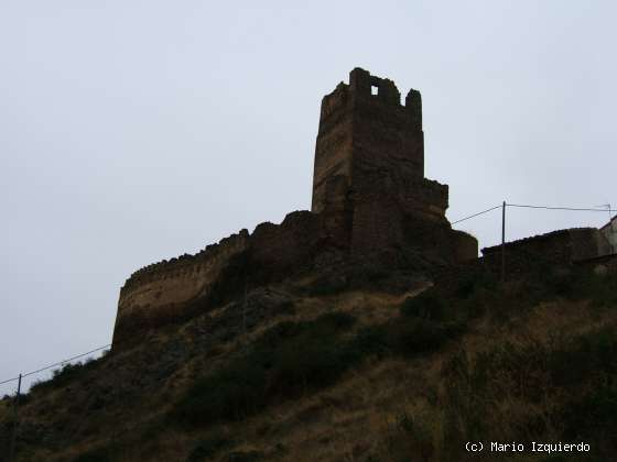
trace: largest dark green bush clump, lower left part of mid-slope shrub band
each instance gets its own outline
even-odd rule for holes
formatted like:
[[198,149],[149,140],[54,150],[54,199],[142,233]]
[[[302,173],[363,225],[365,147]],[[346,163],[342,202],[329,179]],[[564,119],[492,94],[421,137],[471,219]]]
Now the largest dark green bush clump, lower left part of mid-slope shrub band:
[[205,426],[253,415],[275,399],[334,383],[359,356],[340,341],[355,319],[328,314],[310,322],[282,322],[242,356],[197,381],[171,418]]

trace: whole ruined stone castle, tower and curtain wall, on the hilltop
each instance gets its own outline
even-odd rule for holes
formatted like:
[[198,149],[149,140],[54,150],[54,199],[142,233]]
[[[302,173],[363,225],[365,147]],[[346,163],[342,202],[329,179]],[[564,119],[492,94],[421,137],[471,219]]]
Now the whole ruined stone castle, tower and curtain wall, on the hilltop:
[[226,294],[346,265],[399,267],[476,258],[445,218],[448,188],[424,178],[420,92],[355,68],[322,100],[311,211],[259,224],[133,273],[120,290],[113,345],[225,300]]

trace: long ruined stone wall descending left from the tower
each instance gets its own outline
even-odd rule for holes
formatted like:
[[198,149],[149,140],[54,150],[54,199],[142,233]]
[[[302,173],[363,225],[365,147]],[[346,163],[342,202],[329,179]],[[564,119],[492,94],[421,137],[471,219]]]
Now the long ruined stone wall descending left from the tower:
[[120,290],[113,344],[218,306],[246,286],[311,271],[323,254],[339,250],[326,223],[325,215],[295,211],[281,224],[261,223],[252,234],[242,230],[195,255],[136,272]]

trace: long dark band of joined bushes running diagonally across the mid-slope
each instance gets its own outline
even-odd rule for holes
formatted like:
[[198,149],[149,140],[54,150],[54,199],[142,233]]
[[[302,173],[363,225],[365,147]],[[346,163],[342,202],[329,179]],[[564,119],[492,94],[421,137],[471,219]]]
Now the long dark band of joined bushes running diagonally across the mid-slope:
[[[432,298],[424,299],[433,306]],[[350,332],[355,318],[343,312],[313,321],[281,322],[245,354],[197,381],[170,418],[188,428],[240,420],[273,403],[333,385],[366,356],[411,358],[435,351],[465,328],[459,322],[434,320],[434,314],[424,310],[409,310],[409,305],[392,321],[355,333]]]

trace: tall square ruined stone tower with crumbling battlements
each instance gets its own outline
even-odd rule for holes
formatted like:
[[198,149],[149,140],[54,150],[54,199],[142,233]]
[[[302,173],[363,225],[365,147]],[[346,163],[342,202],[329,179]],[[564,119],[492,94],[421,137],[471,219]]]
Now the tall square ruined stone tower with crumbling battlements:
[[354,253],[440,245],[426,233],[453,232],[447,193],[446,185],[424,178],[419,91],[410,90],[402,106],[392,80],[355,68],[349,85],[340,82],[323,98],[312,211],[324,213],[331,232]]

